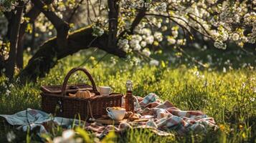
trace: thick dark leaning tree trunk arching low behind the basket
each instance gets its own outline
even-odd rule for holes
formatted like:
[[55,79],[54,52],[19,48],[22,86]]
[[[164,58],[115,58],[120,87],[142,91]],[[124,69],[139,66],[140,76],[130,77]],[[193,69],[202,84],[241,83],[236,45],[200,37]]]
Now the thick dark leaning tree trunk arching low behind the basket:
[[37,77],[44,77],[49,70],[57,64],[59,59],[72,55],[81,49],[90,47],[98,47],[104,51],[115,54],[119,57],[125,57],[126,53],[123,49],[108,48],[108,34],[103,36],[93,36],[91,26],[79,29],[71,33],[67,38],[67,47],[61,51],[58,50],[57,38],[54,37],[46,41],[39,50],[29,60],[28,65],[20,72],[19,77],[23,82],[35,81]]

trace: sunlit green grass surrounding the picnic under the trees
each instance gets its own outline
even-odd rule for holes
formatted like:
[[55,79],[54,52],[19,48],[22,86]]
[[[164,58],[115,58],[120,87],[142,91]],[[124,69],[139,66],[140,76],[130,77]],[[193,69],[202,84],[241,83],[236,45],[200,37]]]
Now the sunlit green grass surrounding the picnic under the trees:
[[[201,51],[199,54],[189,52],[198,61],[204,64],[210,63],[208,68],[202,68],[190,59],[185,60],[188,58],[186,56],[177,56],[177,52],[174,50],[161,57],[160,54],[155,55],[158,59],[171,56],[176,61],[174,63],[162,61],[160,66],[150,66],[146,63],[135,66],[131,62],[116,58],[114,60],[117,62],[114,64],[110,55],[97,64],[102,55],[98,51],[100,56],[96,56],[95,59],[90,58],[82,67],[89,69],[98,86],[110,85],[115,92],[125,92],[125,82],[131,79],[134,94],[143,97],[150,92],[155,92],[161,99],[173,102],[179,109],[202,110],[209,117],[214,117],[219,129],[209,131],[207,134],[191,132],[182,137],[175,132],[173,132],[174,137],[157,137],[148,130],[133,129],[123,134],[122,137],[115,138],[115,141],[256,142],[255,56],[247,56],[245,59],[242,51],[228,51],[229,54],[218,54],[219,51],[216,51],[216,55],[211,55],[214,58],[210,63],[207,61],[207,55],[211,52]],[[62,59],[47,74],[47,77],[38,79],[36,84],[29,83],[21,86],[19,79],[10,82],[6,77],[0,77],[0,114],[14,114],[27,108],[40,109],[39,87],[46,84],[62,84],[65,74],[72,67],[80,65],[88,56],[90,57],[90,52],[89,54],[81,52]],[[227,62],[227,59],[232,60]],[[242,67],[245,63],[247,66]],[[97,66],[93,68],[92,65],[95,64]],[[223,72],[223,67],[226,68],[226,72]],[[82,73],[70,79],[70,83],[75,82],[88,83]],[[6,94],[7,89],[10,90],[9,95]],[[14,131],[19,142],[26,142],[27,133],[16,131],[4,121],[0,123],[0,129],[0,140],[6,141],[6,133]],[[33,141],[39,140],[33,132],[28,137],[31,137]]]

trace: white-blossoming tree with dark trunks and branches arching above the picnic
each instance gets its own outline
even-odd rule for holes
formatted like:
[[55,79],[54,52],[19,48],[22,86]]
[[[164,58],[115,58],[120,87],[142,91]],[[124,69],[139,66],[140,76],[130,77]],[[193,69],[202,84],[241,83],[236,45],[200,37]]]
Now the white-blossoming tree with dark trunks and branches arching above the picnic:
[[[88,25],[70,32],[70,19],[80,6],[87,11]],[[41,14],[56,36],[22,69],[19,75],[27,79],[43,77],[57,60],[90,47],[120,57],[150,57],[152,47],[161,42],[181,46],[202,38],[226,49],[228,42],[243,47],[256,40],[255,0],[0,0],[0,9],[9,22],[10,44],[1,41],[0,54],[9,77],[15,65],[22,68],[24,33]]]

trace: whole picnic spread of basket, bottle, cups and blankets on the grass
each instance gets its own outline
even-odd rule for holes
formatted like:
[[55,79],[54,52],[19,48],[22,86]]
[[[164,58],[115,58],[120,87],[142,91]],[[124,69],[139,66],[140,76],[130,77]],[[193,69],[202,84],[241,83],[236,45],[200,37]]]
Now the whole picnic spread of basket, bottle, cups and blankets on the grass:
[[[93,87],[87,84],[67,84],[71,74],[83,71]],[[67,129],[80,125],[79,117],[85,121],[85,129],[97,137],[104,137],[111,130],[116,133],[126,129],[151,129],[159,136],[186,132],[207,132],[217,127],[212,117],[201,111],[182,111],[171,102],[161,101],[156,94],[136,97],[132,94],[132,83],[126,83],[127,92],[110,93],[110,87],[96,87],[93,77],[86,69],[72,69],[62,86],[42,87],[42,110],[27,109],[13,115],[0,115],[11,125],[26,131],[39,127],[39,133],[47,133],[47,122],[54,122]],[[56,115],[56,117],[53,116]]]

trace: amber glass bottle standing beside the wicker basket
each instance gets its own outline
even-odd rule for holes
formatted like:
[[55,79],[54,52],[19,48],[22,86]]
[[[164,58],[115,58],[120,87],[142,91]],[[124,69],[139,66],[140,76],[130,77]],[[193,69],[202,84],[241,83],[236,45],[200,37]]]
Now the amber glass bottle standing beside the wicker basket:
[[131,80],[126,82],[125,110],[126,112],[134,112],[133,83]]

